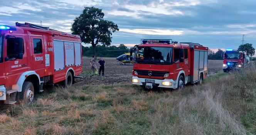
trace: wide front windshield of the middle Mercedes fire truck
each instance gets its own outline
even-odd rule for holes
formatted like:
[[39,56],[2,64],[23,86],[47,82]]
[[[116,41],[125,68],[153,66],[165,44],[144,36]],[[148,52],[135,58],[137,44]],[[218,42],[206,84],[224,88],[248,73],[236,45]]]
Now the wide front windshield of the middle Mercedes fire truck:
[[171,47],[138,47],[135,55],[137,63],[162,65],[172,63]]

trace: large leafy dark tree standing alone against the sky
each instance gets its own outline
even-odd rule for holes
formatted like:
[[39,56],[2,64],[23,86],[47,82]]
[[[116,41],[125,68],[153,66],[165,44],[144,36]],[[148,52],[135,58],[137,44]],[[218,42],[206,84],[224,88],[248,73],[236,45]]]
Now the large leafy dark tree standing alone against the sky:
[[109,20],[104,20],[102,9],[95,7],[84,7],[83,13],[74,19],[72,34],[79,35],[82,42],[93,46],[96,55],[96,45],[104,46],[111,44],[112,33],[118,31],[118,26]]

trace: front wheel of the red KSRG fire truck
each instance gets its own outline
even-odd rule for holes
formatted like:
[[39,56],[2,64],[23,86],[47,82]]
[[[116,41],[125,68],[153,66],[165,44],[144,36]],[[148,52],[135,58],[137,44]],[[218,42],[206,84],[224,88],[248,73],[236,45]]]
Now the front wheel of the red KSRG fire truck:
[[34,85],[32,82],[24,82],[21,91],[21,100],[30,104],[34,99]]

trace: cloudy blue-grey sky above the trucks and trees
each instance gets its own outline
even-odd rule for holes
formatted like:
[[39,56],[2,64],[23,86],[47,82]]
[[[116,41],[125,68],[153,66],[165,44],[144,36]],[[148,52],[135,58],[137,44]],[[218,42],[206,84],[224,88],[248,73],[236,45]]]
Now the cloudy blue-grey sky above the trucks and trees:
[[71,33],[84,7],[103,9],[105,19],[118,24],[113,45],[133,45],[140,39],[171,38],[209,48],[256,48],[256,0],[5,0],[0,24],[42,24]]

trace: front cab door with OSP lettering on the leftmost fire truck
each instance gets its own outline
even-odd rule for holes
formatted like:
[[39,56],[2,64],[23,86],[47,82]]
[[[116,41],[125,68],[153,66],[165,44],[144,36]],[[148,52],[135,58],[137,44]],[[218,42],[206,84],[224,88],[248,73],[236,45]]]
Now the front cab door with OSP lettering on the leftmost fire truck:
[[[7,76],[7,86],[19,78],[20,74],[28,71],[26,39],[21,35],[6,36],[4,42],[4,63],[5,75]],[[18,55],[19,54],[19,55]],[[18,58],[20,57],[20,58]]]

